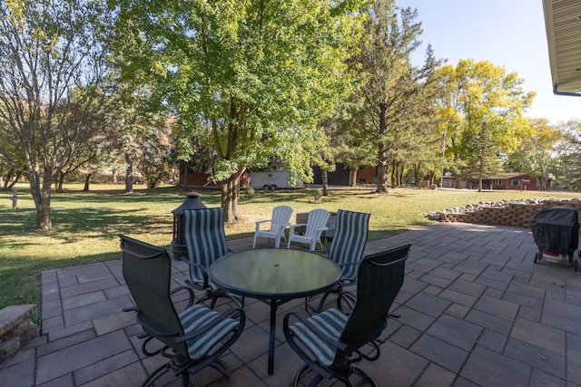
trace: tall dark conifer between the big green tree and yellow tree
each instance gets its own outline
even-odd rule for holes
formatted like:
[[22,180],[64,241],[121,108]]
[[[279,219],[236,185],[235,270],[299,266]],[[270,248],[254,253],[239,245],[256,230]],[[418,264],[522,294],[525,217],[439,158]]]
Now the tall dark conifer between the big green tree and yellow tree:
[[400,137],[415,129],[416,107],[430,98],[431,75],[438,65],[429,46],[424,65],[411,64],[410,54],[420,44],[421,24],[415,22],[417,11],[401,9],[398,16],[395,10],[392,0],[377,0],[369,6],[368,39],[360,44],[355,63],[368,79],[360,91],[361,114],[366,116],[362,129],[377,148],[378,193],[388,190],[389,162],[398,162]]

